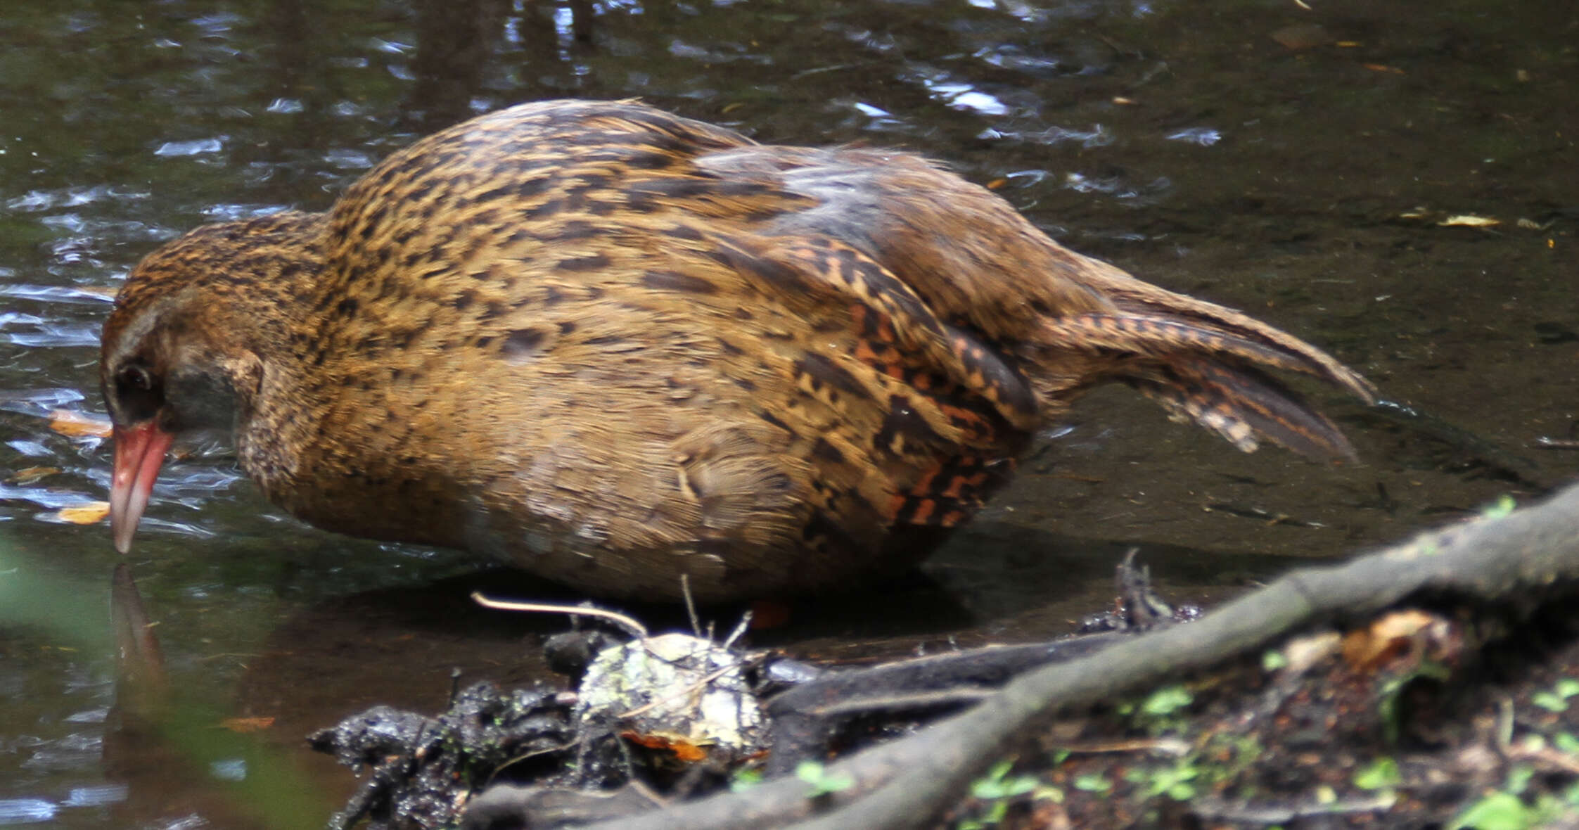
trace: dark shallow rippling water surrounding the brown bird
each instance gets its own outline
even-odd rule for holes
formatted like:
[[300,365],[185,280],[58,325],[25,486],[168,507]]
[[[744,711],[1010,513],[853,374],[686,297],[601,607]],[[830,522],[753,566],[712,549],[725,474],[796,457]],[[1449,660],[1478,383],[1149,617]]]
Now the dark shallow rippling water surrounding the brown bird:
[[1129,546],[1170,596],[1214,601],[1573,478],[1579,453],[1535,442],[1579,437],[1579,13],[1312,5],[6,3],[0,825],[268,824],[237,780],[305,770],[324,803],[352,783],[305,732],[436,707],[456,666],[538,671],[561,623],[464,592],[540,587],[306,529],[205,445],[169,465],[128,562],[172,680],[215,724],[273,723],[202,750],[139,738],[112,713],[120,557],[58,518],[104,497],[107,447],[49,426],[103,412],[96,330],[161,240],[324,208],[393,148],[518,101],[641,96],[763,140],[947,159],[1072,248],[1326,346],[1427,415],[1331,401],[1363,462],[1325,467],[1104,390],[927,579],[808,603],[772,642],[864,658],[1058,634]]

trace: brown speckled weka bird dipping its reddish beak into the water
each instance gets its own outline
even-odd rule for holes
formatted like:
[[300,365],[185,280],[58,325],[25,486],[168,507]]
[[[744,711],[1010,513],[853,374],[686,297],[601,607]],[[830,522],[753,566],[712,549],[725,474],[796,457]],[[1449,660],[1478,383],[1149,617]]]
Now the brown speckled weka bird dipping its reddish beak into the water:
[[1241,450],[1350,456],[1263,368],[1372,394],[922,158],[543,101],[395,153],[327,213],[155,251],[101,377],[123,552],[172,437],[219,426],[319,527],[726,600],[914,562],[1099,383]]

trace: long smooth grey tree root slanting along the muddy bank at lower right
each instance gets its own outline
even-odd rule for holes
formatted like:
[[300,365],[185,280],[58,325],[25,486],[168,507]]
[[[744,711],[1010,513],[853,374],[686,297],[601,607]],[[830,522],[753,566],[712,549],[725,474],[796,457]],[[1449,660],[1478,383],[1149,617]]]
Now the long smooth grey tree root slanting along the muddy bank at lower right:
[[[829,764],[824,770],[829,780],[851,781],[837,792],[778,776],[741,792],[587,827],[917,827],[957,803],[970,783],[1017,738],[1061,712],[1265,649],[1301,628],[1367,617],[1410,598],[1462,600],[1524,615],[1543,598],[1576,584],[1579,486],[1571,486],[1506,516],[1487,514],[1421,533],[1347,565],[1290,573],[1192,625],[1162,628],[1031,671],[960,715]],[[489,813],[496,816],[497,809]]]

